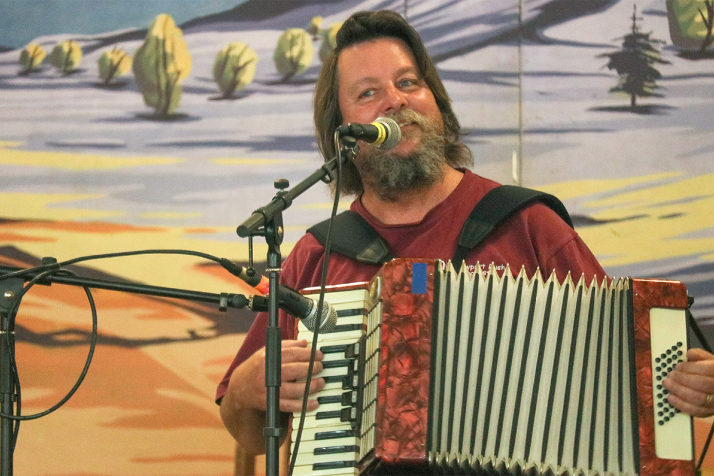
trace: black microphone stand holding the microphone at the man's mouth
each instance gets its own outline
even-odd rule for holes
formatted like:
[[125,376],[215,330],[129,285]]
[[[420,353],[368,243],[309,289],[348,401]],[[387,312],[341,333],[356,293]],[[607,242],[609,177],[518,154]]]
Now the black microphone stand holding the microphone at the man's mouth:
[[[338,157],[326,162],[309,177],[291,190],[286,179],[275,182],[276,196],[266,206],[258,208],[236,229],[241,238],[263,236],[268,244],[266,271],[268,272],[268,328],[266,329],[266,476],[278,476],[280,466],[280,385],[281,385],[281,328],[278,322],[278,279],[281,271],[280,244],[283,242],[283,210],[287,209],[299,195],[318,181],[332,182],[333,171],[338,162],[348,162],[358,152],[357,141],[343,137],[345,147]],[[252,241],[251,241],[252,242]]]

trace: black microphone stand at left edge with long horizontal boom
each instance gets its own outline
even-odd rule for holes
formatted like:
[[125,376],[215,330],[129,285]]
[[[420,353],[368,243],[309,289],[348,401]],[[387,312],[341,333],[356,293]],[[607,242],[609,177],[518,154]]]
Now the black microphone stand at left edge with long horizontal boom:
[[[0,266],[0,277],[17,271],[21,271],[21,268]],[[0,279],[0,412],[3,415],[13,415],[15,403],[14,380],[11,378],[11,354],[14,352],[14,348],[9,345],[12,342],[9,334],[13,334],[14,330],[11,325],[10,313],[16,307],[16,304],[19,305],[17,299],[21,299],[18,297],[23,289],[24,281],[34,279],[42,272],[44,271],[39,270],[27,272],[19,277]],[[249,299],[243,294],[228,294],[225,292],[213,294],[171,287],[115,282],[108,279],[89,279],[66,274],[50,274],[37,282],[37,284],[45,285],[52,283],[209,302],[218,304],[218,309],[221,311],[226,311],[228,307],[243,308],[250,304]],[[0,417],[0,475],[2,476],[13,474],[14,435],[12,421],[11,418]]]

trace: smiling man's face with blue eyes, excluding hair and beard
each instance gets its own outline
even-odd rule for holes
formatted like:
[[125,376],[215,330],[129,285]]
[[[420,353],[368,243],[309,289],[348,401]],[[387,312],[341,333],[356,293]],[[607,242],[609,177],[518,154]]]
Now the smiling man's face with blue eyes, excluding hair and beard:
[[[338,101],[344,124],[369,124],[378,117],[412,109],[443,131],[441,111],[403,41],[381,38],[354,44],[340,52],[337,67]],[[402,140],[392,152],[411,154],[421,142],[423,127],[403,119],[397,122]]]

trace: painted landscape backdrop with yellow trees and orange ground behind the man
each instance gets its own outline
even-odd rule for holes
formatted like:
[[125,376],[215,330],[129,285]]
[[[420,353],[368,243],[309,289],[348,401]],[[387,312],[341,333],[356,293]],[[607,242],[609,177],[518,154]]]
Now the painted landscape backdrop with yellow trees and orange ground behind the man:
[[[712,334],[710,4],[0,2],[0,260],[29,267],[44,257],[186,249],[247,264],[238,224],[273,197],[276,179],[294,185],[319,167],[311,96],[321,50],[353,11],[387,8],[426,41],[475,171],[558,195],[608,274],[685,282]],[[636,45],[625,49],[628,38]],[[160,40],[173,63],[149,61]],[[635,59],[619,61],[633,51]],[[633,61],[643,68],[633,71]],[[152,85],[152,76],[171,87]],[[330,206],[323,184],[293,203],[283,254]],[[265,252],[256,242],[258,269]],[[249,292],[204,257],[145,254],[69,269]],[[235,448],[213,392],[251,312],[93,296],[98,338],[86,379],[59,410],[20,425],[16,474],[231,474]],[[82,289],[40,285],[26,294],[16,319],[23,414],[69,391],[90,335]],[[710,423],[697,423],[700,446]]]

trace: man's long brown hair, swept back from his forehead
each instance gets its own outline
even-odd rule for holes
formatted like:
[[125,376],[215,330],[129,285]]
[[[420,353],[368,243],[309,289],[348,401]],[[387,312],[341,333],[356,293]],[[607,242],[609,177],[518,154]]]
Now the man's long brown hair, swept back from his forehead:
[[[469,167],[473,165],[473,155],[466,144],[459,142],[461,126],[451,108],[441,78],[436,72],[431,58],[426,52],[421,37],[401,15],[391,10],[358,11],[347,19],[337,32],[337,46],[323,62],[320,75],[315,84],[314,120],[318,149],[326,161],[334,155],[334,131],[342,124],[342,114],[338,103],[337,62],[340,51],[374,39],[391,37],[401,39],[411,49],[421,77],[431,89],[436,105],[441,111],[447,144],[444,148],[446,162],[451,167]],[[356,167],[348,163],[343,167],[341,192],[360,194],[363,192],[362,180]]]

